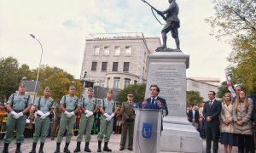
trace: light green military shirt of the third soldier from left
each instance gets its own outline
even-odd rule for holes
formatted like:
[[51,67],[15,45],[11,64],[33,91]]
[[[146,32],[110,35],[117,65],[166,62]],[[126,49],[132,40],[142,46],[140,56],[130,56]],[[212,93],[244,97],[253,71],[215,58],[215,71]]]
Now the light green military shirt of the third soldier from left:
[[79,98],[76,95],[74,95],[72,98],[72,97],[70,97],[69,94],[67,94],[61,98],[60,104],[64,105],[64,106],[66,105],[65,109],[67,111],[74,111],[76,109],[76,107],[81,106]]

